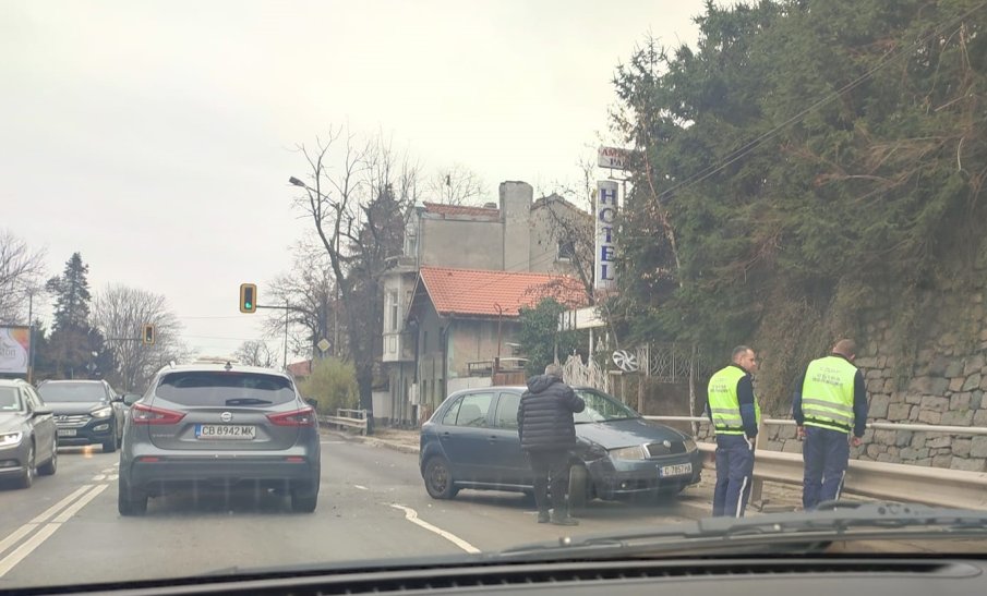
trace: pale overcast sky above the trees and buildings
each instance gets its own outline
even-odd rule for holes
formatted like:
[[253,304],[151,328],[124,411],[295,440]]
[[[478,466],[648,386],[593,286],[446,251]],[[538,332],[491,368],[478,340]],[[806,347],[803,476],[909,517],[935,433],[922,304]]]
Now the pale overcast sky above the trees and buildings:
[[348,123],[488,200],[549,193],[611,137],[615,66],[649,33],[695,45],[702,4],[0,0],[0,227],[50,275],[81,252],[94,293],[165,294],[190,346],[230,354],[265,316],[239,284],[263,304],[311,226],[297,144]]

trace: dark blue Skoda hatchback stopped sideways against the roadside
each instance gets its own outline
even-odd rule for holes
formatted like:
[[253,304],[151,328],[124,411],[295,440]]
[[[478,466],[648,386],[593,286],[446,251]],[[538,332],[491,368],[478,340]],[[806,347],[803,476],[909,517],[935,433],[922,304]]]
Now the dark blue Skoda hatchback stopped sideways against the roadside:
[[[646,421],[621,401],[592,388],[574,388],[586,402],[575,414],[569,499],[619,499],[677,494],[700,479],[696,442],[674,428]],[[460,488],[532,489],[517,434],[523,387],[488,387],[453,393],[422,425],[419,464],[425,489],[448,499]]]

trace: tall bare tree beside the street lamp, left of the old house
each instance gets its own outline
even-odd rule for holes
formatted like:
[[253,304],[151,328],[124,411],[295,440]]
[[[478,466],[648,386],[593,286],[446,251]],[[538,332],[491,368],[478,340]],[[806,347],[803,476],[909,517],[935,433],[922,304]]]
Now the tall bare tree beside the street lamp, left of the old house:
[[357,370],[361,406],[372,413],[374,370],[382,356],[382,277],[390,257],[401,252],[404,214],[414,197],[418,168],[380,137],[360,141],[347,133],[339,144],[341,165],[334,170],[329,149],[340,136],[342,130],[336,129],[327,141],[316,138],[314,147],[300,145],[308,182],[290,182],[304,188],[296,205],[312,219],[329,257],[346,320],[346,356]]

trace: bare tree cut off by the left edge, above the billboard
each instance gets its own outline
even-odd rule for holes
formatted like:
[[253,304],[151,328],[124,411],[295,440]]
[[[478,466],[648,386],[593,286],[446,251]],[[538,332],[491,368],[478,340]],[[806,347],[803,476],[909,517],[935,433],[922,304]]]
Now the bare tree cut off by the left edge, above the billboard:
[[44,291],[44,278],[45,251],[0,229],[0,323],[27,320],[28,300]]

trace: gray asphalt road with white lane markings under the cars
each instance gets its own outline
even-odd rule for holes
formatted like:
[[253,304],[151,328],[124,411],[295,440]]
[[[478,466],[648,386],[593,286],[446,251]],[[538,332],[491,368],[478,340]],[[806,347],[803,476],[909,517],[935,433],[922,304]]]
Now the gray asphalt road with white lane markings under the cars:
[[576,528],[537,524],[533,501],[522,495],[462,490],[450,501],[431,499],[416,454],[336,436],[324,437],[322,448],[315,513],[292,513],[273,492],[219,491],[152,499],[142,518],[117,512],[118,454],[62,449],[55,476],[27,490],[0,488],[0,588],[461,555],[701,512],[688,497],[594,502]]

